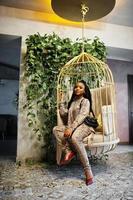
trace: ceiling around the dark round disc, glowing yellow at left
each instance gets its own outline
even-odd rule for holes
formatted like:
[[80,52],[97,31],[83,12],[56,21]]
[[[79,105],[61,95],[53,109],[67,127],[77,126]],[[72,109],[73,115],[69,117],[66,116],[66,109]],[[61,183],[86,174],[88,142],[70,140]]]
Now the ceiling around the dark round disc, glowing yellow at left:
[[[0,0],[0,5],[54,14],[51,0]],[[133,0],[116,0],[112,12],[98,21],[133,27]]]

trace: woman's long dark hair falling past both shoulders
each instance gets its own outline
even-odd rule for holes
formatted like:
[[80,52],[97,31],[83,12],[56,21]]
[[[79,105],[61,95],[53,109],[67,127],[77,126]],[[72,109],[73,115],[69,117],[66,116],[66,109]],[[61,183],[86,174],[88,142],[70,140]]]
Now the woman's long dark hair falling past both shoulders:
[[[91,98],[91,92],[90,92],[90,89],[89,87],[87,86],[86,82],[84,80],[81,80],[81,81],[78,81],[78,83],[83,83],[84,86],[85,86],[85,93],[83,94],[83,97],[88,99],[89,102],[90,102],[90,112],[92,111],[92,98]],[[71,99],[68,103],[68,109],[70,108],[71,106],[71,103],[74,101],[76,95],[74,93],[74,89],[73,89],[73,93],[72,93],[72,96],[71,96]]]

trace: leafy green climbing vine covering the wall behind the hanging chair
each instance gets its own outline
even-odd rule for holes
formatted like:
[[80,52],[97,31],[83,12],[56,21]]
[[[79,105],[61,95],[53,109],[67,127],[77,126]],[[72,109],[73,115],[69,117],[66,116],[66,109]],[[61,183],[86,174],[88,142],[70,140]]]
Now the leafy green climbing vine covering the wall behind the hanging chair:
[[[52,129],[56,125],[56,83],[61,67],[81,53],[82,41],[73,42],[55,33],[39,33],[26,39],[25,78],[28,125],[40,140],[44,138],[47,152],[53,149]],[[85,51],[105,61],[106,47],[98,37],[85,40]]]

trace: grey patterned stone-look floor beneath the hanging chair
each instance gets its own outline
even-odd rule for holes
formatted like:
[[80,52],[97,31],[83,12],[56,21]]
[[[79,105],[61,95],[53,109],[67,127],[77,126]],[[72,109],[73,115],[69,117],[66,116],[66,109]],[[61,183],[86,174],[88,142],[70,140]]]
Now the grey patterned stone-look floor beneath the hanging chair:
[[0,159],[0,200],[133,200],[133,148],[116,150],[92,164],[94,184],[86,186],[80,164],[17,167]]

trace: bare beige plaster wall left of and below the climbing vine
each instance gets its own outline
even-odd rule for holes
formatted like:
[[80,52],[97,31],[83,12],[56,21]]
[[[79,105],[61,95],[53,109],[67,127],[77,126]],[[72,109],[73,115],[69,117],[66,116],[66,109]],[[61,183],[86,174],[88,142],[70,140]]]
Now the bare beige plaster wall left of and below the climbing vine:
[[27,110],[23,108],[26,103],[26,85],[24,79],[24,66],[21,65],[19,81],[19,110],[18,110],[18,137],[17,137],[17,160],[40,161],[45,156],[42,149],[43,140],[38,141],[37,135],[32,128],[28,127]]

